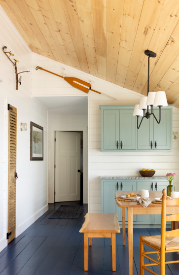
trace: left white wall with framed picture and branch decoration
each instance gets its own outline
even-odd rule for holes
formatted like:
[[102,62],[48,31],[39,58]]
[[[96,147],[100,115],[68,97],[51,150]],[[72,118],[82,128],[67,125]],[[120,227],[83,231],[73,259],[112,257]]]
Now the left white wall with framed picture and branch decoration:
[[[15,90],[15,70],[2,52],[2,46],[19,60],[22,85]],[[48,209],[47,205],[47,110],[32,99],[32,52],[0,7],[0,250],[7,245],[7,103],[17,108],[16,236]],[[30,121],[43,127],[44,161],[30,161]],[[27,131],[20,131],[20,122]]]

